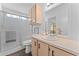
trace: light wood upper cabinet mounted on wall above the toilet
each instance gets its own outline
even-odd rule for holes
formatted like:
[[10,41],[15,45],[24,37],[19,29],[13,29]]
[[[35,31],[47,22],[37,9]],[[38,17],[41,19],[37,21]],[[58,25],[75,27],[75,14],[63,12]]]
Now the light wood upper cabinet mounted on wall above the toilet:
[[31,17],[31,24],[41,24],[42,6],[39,3],[34,4],[33,7],[31,8],[31,11],[28,13],[28,15],[29,17]]

